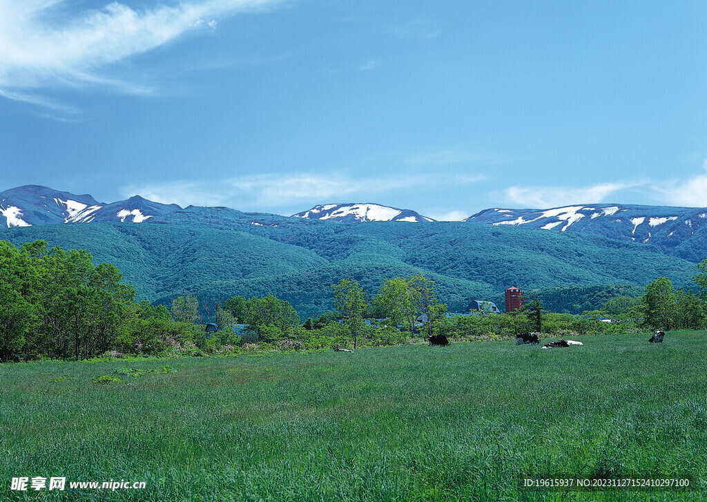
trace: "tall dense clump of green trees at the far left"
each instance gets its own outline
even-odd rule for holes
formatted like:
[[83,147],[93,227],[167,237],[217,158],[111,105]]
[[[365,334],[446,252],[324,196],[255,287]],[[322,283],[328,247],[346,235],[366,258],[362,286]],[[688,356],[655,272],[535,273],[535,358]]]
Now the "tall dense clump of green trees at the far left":
[[93,356],[115,344],[136,312],[118,269],[95,267],[85,250],[47,250],[38,240],[18,251],[3,242],[0,261],[0,358]]

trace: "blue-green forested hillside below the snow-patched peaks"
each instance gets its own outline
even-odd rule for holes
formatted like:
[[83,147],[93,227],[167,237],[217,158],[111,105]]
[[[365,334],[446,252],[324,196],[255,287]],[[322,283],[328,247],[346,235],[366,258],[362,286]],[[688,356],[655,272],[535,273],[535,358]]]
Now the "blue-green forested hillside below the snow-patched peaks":
[[[450,310],[462,310],[474,298],[500,298],[512,285],[525,291],[645,286],[670,276],[676,286],[689,287],[696,272],[693,263],[653,246],[579,233],[461,222],[334,223],[198,209],[140,224],[9,228],[0,230],[0,238],[86,249],[97,262],[115,264],[141,299],[169,303],[191,293],[213,303],[272,293],[303,317],[331,308],[329,286],[347,277],[374,293],[385,279],[423,274],[436,281]],[[577,303],[557,298],[558,310],[571,311],[568,305]]]

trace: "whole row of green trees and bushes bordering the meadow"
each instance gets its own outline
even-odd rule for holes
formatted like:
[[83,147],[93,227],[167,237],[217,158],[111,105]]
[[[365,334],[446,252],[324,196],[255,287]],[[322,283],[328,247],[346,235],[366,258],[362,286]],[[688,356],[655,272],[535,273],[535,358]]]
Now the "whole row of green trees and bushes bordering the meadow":
[[[617,296],[584,315],[548,313],[537,298],[513,314],[450,315],[435,283],[422,275],[382,281],[371,295],[356,281],[331,286],[335,310],[302,322],[286,300],[233,296],[216,304],[206,335],[199,301],[180,296],[171,308],[137,303],[112,264],[93,264],[85,250],[49,249],[37,240],[15,247],[0,240],[0,361],[91,358],[103,354],[199,356],[254,346],[322,349],[390,345],[433,334],[501,339],[520,332],[621,334],[636,329],[707,328],[707,259],[698,291],[675,289],[667,277],[640,297]],[[602,322],[611,319],[612,322]]]

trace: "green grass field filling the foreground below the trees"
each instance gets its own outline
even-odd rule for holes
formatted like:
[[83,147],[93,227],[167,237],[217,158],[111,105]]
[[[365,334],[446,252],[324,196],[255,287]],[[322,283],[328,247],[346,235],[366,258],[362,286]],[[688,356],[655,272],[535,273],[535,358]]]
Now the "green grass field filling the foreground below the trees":
[[[707,500],[707,333],[580,340],[1,365],[0,499]],[[37,476],[146,489],[9,490]],[[559,476],[697,487],[518,488]]]

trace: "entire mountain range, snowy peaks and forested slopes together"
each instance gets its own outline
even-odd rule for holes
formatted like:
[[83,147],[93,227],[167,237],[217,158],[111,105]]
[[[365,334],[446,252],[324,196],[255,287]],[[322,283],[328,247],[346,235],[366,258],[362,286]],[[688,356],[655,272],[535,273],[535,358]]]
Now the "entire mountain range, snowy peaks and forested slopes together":
[[[602,205],[572,206],[573,211],[490,209],[467,222],[426,218],[406,224],[412,220],[335,219],[356,212],[368,220],[381,218],[385,212],[378,208],[387,206],[329,206],[322,206],[318,214],[329,211],[330,218],[313,219],[225,207],[182,209],[141,197],[104,204],[90,195],[31,185],[0,192],[5,218],[0,218],[0,225],[6,227],[0,228],[0,239],[16,245],[43,239],[64,249],[86,249],[96,262],[115,264],[139,299],[169,304],[175,296],[194,294],[202,305],[213,305],[235,294],[272,293],[292,303],[303,317],[332,308],[329,286],[340,279],[355,279],[373,294],[385,279],[414,274],[433,279],[440,300],[455,311],[465,310],[472,299],[489,299],[502,307],[504,289],[518,286],[540,291],[560,311],[577,313],[600,306],[610,294],[638,294],[660,276],[669,276],[676,286],[694,287],[695,262],[707,249],[699,226],[704,218],[694,209],[616,206],[614,211]],[[402,209],[385,211],[389,215],[400,211],[391,219],[411,216]],[[677,218],[670,219],[673,216]],[[616,218],[645,220],[631,223],[625,238],[621,237],[625,222]],[[651,218],[666,219],[661,223]],[[693,220],[692,227],[685,218]],[[542,228],[557,221],[561,223]],[[585,222],[598,224],[607,235]],[[694,232],[675,230],[667,236],[667,226],[678,223]],[[642,225],[651,234],[646,243],[639,233]],[[609,235],[611,228],[617,229],[619,238]],[[682,243],[661,248],[659,237],[680,238]],[[678,256],[689,249],[692,254],[685,255],[691,262]]]

